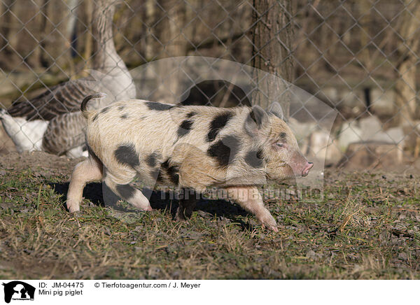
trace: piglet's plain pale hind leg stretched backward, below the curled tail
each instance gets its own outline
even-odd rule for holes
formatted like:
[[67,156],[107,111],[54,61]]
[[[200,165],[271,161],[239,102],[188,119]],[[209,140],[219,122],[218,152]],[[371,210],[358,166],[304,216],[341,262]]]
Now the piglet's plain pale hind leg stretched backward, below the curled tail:
[[70,213],[80,210],[83,189],[86,183],[102,179],[102,162],[93,155],[76,165],[71,174],[69,192],[67,192],[66,205]]

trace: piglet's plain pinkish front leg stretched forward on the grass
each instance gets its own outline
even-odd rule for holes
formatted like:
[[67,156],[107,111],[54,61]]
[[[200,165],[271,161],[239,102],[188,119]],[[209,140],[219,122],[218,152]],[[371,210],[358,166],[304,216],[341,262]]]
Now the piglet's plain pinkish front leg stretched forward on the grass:
[[258,221],[261,222],[262,227],[267,226],[274,232],[279,231],[276,220],[274,220],[271,213],[265,208],[257,187],[235,186],[226,187],[226,190],[228,190],[228,197],[237,202],[246,211],[253,213]]

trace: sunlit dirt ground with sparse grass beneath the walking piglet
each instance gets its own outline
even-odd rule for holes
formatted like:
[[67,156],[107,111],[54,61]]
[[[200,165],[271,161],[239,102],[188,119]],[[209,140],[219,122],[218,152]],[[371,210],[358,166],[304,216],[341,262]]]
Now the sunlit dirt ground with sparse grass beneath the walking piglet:
[[203,199],[175,222],[174,199],[154,211],[105,207],[86,187],[64,208],[79,160],[0,155],[0,278],[420,278],[416,173],[325,171],[324,197],[265,202],[279,232],[223,200]]

